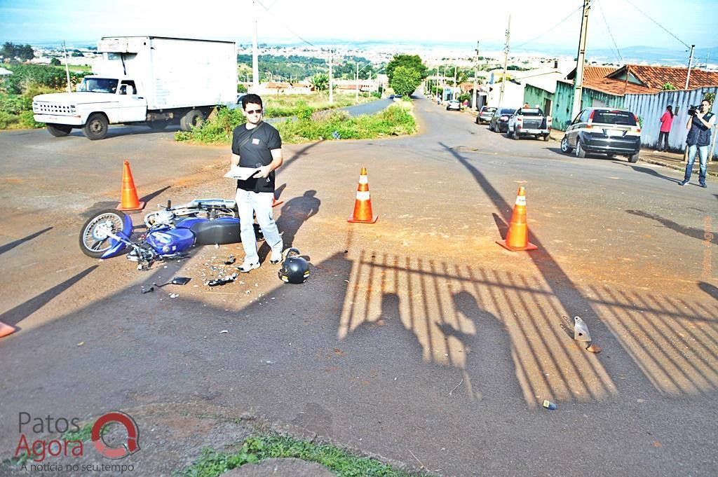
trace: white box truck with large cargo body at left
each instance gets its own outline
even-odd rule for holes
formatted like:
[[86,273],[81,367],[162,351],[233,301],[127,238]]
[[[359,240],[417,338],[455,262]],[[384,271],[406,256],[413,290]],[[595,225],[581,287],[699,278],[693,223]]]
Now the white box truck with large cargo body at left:
[[75,93],[32,99],[35,121],[52,136],[82,128],[102,139],[109,124],[146,124],[163,129],[199,126],[213,108],[236,103],[234,42],[166,37],[103,37],[101,58]]

